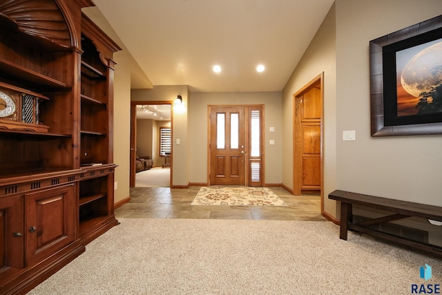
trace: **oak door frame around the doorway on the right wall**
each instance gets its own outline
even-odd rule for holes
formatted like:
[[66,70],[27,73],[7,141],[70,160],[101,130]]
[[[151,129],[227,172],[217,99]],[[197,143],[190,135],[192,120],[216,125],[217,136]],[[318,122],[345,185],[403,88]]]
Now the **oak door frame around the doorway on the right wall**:
[[316,84],[320,85],[322,108],[320,120],[320,209],[322,213],[324,211],[324,72],[305,84],[293,95],[293,194],[294,196],[300,196],[301,194],[299,175],[302,175],[302,152],[296,148],[300,141],[300,129],[298,128],[300,126],[300,116],[297,115],[298,106],[300,105],[300,97]]

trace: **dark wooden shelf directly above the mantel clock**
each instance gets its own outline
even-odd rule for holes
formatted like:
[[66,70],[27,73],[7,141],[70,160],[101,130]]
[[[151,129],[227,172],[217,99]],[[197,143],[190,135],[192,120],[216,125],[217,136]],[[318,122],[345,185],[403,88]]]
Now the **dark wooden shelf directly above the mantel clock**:
[[68,84],[58,81],[52,77],[48,77],[41,73],[37,73],[34,70],[29,70],[23,66],[19,66],[14,64],[6,59],[0,57],[0,70],[7,75],[20,79],[21,82],[25,82],[26,80],[30,82],[30,84],[37,84],[39,86],[49,86],[52,90],[57,91],[69,91],[72,89],[72,86]]

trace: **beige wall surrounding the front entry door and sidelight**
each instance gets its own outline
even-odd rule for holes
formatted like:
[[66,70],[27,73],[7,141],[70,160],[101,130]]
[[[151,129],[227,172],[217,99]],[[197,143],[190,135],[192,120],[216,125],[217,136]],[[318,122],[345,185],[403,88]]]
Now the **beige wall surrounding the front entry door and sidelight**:
[[[190,180],[206,183],[207,179],[207,106],[226,104],[264,104],[265,105],[265,183],[282,182],[282,120],[281,93],[192,93],[190,126]],[[275,127],[270,133],[269,127]],[[269,145],[275,140],[275,145]]]

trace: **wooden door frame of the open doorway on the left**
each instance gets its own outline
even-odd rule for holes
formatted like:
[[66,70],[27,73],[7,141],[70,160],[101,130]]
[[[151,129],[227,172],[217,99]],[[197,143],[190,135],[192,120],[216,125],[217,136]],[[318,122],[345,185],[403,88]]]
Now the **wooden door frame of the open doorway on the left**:
[[[135,187],[135,158],[137,156],[137,106],[138,105],[156,105],[156,104],[170,104],[171,105],[171,132],[173,138],[173,101],[131,101],[131,146],[130,146],[130,173],[129,173],[129,187]],[[171,146],[171,179],[170,187],[172,187],[173,180],[173,144]]]

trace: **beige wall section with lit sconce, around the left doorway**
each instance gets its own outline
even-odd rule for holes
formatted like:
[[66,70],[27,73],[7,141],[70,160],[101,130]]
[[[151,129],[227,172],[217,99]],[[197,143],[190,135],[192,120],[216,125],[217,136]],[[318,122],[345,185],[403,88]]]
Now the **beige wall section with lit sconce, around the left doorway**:
[[[182,106],[172,107],[172,186],[182,187],[189,184],[189,90],[186,85],[155,86],[152,89],[133,89],[133,101],[173,101],[182,96]],[[176,140],[180,139],[180,144]]]

